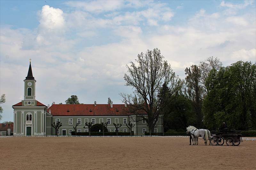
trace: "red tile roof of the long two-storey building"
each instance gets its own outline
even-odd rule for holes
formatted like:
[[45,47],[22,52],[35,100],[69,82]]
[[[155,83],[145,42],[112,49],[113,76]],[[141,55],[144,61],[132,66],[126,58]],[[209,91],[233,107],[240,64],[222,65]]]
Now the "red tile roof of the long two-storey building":
[[[128,116],[128,107],[124,104],[53,104],[48,108],[53,116]],[[141,114],[146,114],[142,112]]]

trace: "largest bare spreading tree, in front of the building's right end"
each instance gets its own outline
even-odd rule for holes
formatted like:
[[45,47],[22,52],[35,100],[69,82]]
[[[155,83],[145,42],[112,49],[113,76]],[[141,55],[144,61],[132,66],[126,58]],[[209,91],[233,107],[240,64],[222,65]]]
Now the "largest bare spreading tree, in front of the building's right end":
[[[128,74],[124,74],[126,86],[134,88],[133,95],[121,93],[123,102],[129,105],[129,111],[146,120],[149,133],[154,131],[156,121],[164,106],[163,95],[159,95],[163,84],[168,85],[170,93],[178,92],[183,84],[173,72],[171,65],[163,60],[160,50],[155,48],[145,54],[138,54],[137,64],[126,65]],[[142,111],[147,115],[141,114]]]

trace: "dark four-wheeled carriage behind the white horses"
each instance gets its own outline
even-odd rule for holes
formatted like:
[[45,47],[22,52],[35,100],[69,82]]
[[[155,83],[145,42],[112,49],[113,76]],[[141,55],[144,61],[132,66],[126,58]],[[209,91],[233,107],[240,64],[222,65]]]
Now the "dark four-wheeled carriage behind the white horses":
[[211,145],[223,145],[224,140],[228,146],[238,146],[240,142],[243,142],[241,131],[231,131],[223,129],[219,131],[212,131],[212,136],[209,138]]

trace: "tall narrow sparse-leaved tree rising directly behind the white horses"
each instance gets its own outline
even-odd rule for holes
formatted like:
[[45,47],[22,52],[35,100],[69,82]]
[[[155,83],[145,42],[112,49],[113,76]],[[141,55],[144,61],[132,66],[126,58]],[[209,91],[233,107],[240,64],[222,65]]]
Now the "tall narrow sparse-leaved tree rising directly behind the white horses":
[[192,101],[193,110],[196,113],[196,127],[203,128],[202,102],[205,89],[200,83],[201,72],[196,65],[192,65],[185,69],[185,74],[188,97]]

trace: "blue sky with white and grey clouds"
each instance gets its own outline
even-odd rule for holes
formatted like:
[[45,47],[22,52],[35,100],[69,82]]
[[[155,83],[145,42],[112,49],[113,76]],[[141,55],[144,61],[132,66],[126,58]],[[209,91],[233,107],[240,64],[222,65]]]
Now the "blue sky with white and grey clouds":
[[210,56],[256,61],[256,1],[45,1],[0,1],[1,122],[24,99],[30,58],[45,105],[122,103],[126,65],[148,49],[182,79]]

